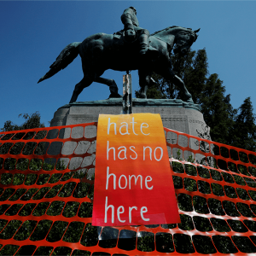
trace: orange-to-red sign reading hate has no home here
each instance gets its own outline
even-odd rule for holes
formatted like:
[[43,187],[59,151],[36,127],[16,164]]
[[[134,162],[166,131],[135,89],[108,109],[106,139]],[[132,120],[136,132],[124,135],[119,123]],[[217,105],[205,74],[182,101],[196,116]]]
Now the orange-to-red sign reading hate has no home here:
[[179,222],[160,114],[100,114],[92,225]]

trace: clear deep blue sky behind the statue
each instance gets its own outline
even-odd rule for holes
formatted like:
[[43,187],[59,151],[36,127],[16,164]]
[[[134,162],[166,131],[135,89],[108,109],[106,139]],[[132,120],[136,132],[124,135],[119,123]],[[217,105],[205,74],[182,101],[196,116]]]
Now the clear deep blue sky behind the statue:
[[[234,108],[247,96],[255,108],[255,1],[0,1],[0,128],[6,120],[20,125],[20,113],[36,111],[49,126],[83,78],[80,57],[54,77],[40,84],[38,79],[67,44],[122,29],[120,15],[129,6],[136,7],[140,26],[149,32],[173,25],[201,27],[192,49],[207,49],[209,72],[224,81]],[[107,71],[102,77],[114,79],[121,92],[123,74]],[[131,75],[134,92],[137,71]],[[78,101],[108,95],[108,86],[94,83]]]

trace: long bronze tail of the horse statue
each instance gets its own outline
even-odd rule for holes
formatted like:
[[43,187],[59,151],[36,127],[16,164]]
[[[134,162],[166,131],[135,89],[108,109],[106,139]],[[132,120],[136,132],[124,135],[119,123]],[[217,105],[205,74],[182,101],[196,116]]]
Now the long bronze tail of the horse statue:
[[61,69],[64,69],[69,65],[78,55],[79,55],[79,44],[80,42],[74,42],[72,44],[68,44],[57,56],[56,61],[49,66],[49,72],[44,75],[41,79],[39,79],[38,83],[44,81],[45,79],[49,79],[55,73],[58,73]]

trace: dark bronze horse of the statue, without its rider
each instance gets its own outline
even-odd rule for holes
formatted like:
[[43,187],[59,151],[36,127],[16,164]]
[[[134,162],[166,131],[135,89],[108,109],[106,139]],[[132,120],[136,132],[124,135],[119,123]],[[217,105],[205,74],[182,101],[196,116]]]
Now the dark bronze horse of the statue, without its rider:
[[135,38],[132,42],[125,40],[124,32],[114,34],[97,33],[85,38],[84,41],[68,44],[56,61],[49,67],[50,70],[39,79],[49,79],[61,69],[69,65],[78,55],[82,58],[84,78],[75,85],[70,103],[76,102],[79,94],[93,82],[106,84],[111,92],[109,97],[120,97],[118,86],[113,79],[104,79],[102,74],[108,70],[116,71],[138,70],[141,97],[147,98],[148,86],[152,83],[152,73],[158,73],[166,80],[176,84],[183,91],[184,100],[193,103],[192,96],[183,80],[172,72],[171,51],[186,53],[195,42],[200,29],[193,31],[182,26],[169,26],[166,29],[154,32],[149,37],[149,47],[157,49],[158,55],[147,60],[139,55],[139,43]]

